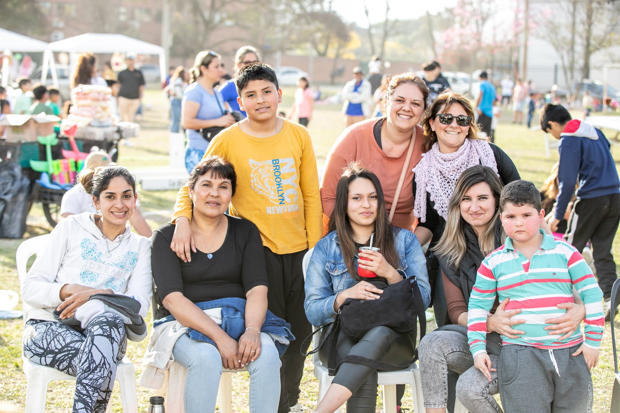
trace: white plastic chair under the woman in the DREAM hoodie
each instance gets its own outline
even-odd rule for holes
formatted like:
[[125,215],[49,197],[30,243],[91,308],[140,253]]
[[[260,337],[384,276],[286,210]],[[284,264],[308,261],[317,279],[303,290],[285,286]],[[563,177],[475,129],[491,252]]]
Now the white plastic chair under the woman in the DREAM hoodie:
[[[22,242],[15,253],[15,264],[19,283],[26,276],[26,264],[32,255],[37,254],[49,242],[50,234],[40,235]],[[28,318],[30,307],[22,300],[24,311],[24,324]],[[27,377],[26,384],[26,413],[42,413],[45,411],[45,399],[47,386],[51,380],[76,380],[75,377],[66,375],[55,368],[46,367],[33,363],[29,358],[23,357],[23,370]],[[120,396],[123,404],[123,412],[138,413],[138,397],[136,395],[136,374],[131,360],[125,356],[117,365],[116,380],[120,384]],[[111,403],[108,403],[108,412],[112,411]]]

